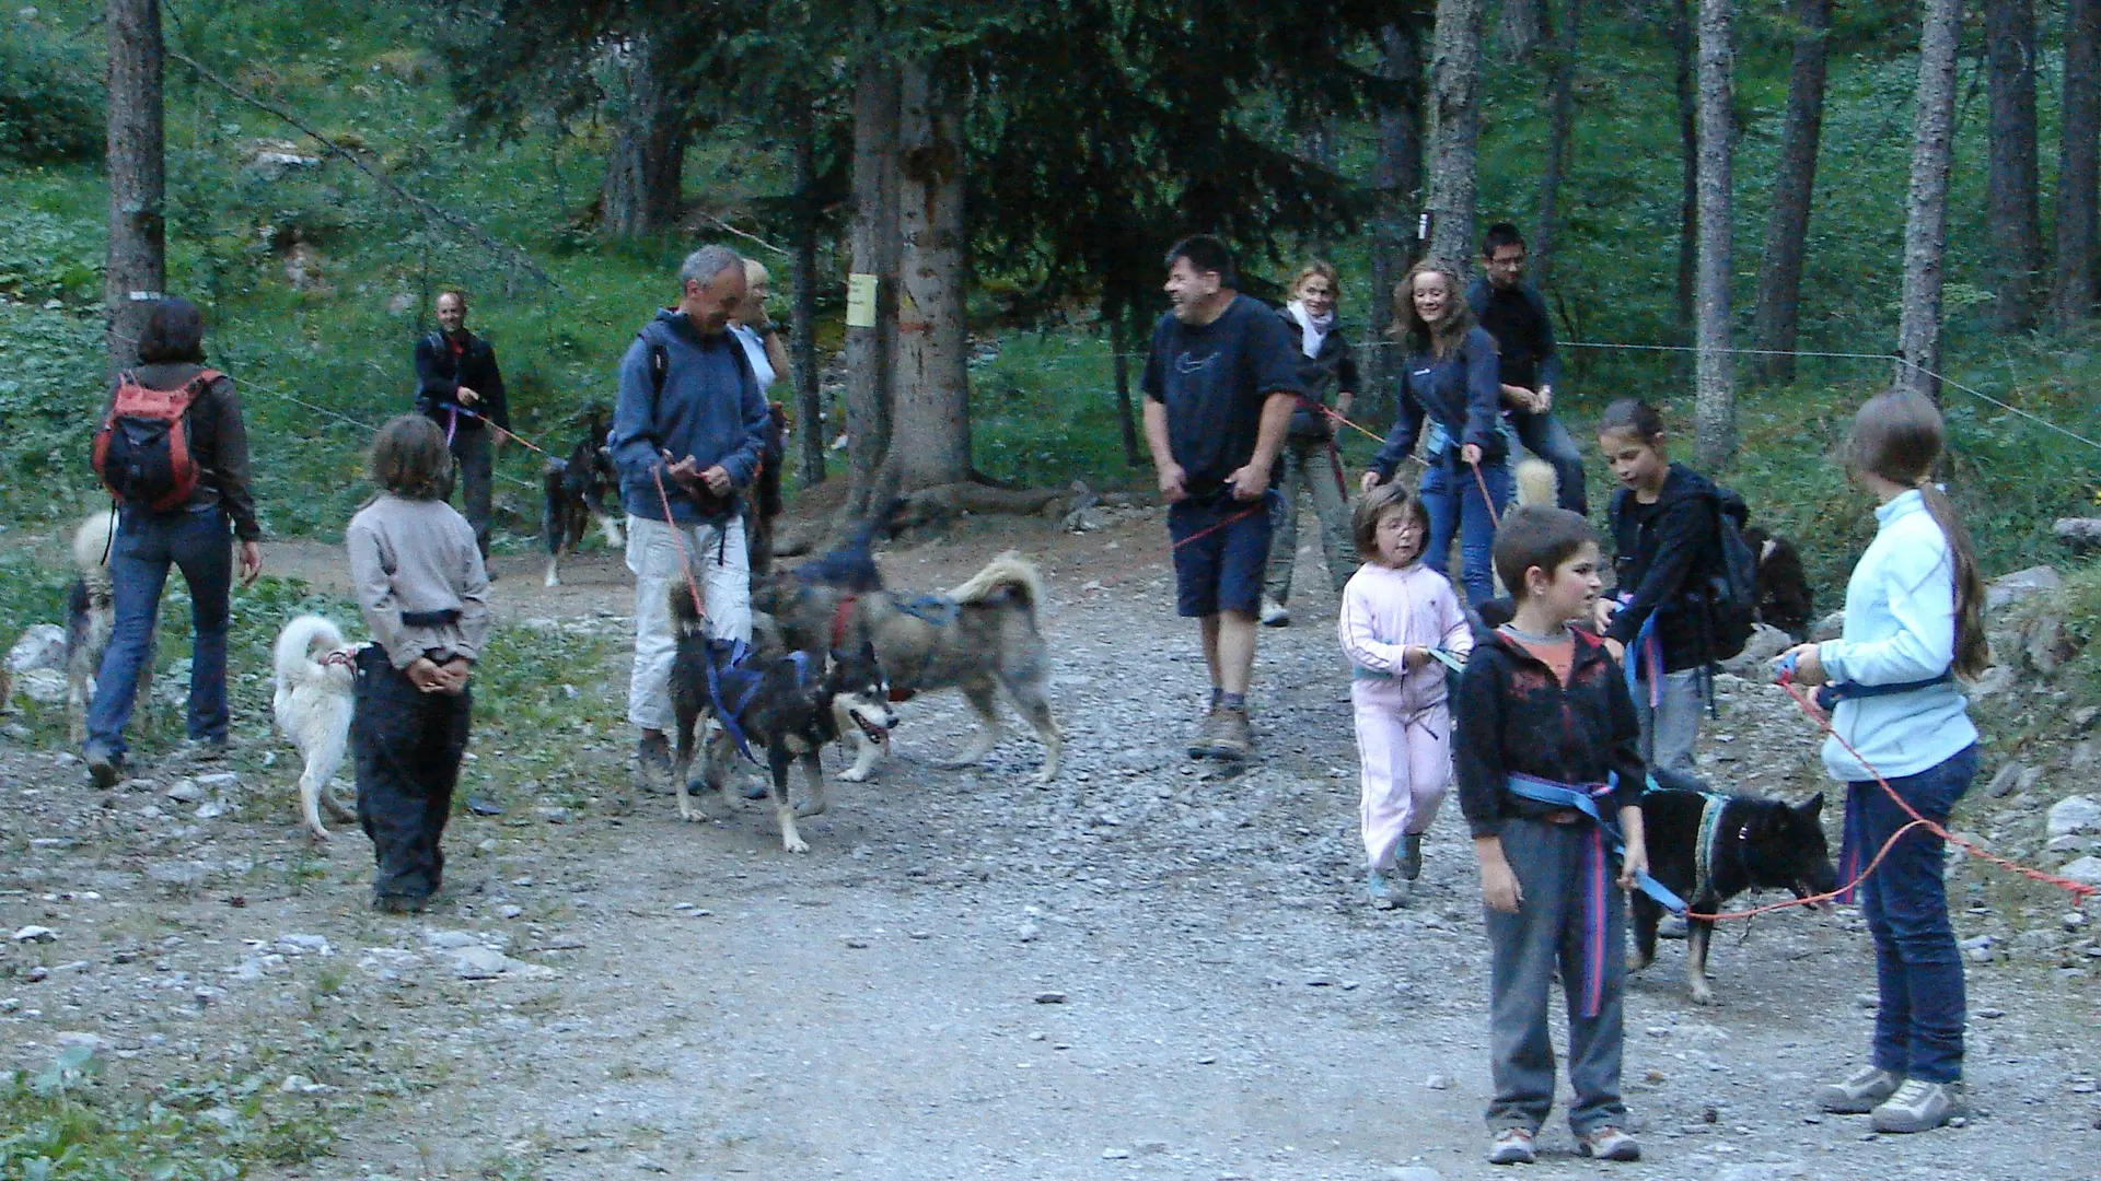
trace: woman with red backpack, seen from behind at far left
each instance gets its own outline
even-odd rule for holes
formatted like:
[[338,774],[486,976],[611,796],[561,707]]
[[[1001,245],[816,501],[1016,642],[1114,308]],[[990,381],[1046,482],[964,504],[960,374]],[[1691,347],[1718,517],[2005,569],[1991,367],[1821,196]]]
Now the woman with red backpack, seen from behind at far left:
[[248,429],[233,380],[204,368],[204,313],[162,298],[139,332],[139,366],[118,376],[95,435],[95,473],[118,500],[109,542],[113,624],[88,706],[90,780],[124,778],[124,725],[153,651],[168,567],[189,584],[189,742],[227,744],[227,616],[233,546],[242,586],[263,574],[263,530],[248,496]]

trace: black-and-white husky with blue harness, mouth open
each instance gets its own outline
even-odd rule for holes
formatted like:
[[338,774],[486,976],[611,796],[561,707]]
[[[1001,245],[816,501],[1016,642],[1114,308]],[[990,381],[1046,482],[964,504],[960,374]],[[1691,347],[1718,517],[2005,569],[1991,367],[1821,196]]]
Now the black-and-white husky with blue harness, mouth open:
[[[679,654],[670,668],[670,704],[677,719],[677,757],[672,778],[679,784],[679,815],[708,820],[693,805],[689,778],[695,738],[714,721],[721,731],[708,740],[702,757],[706,786],[727,801],[727,765],[742,746],[765,746],[767,769],[773,773],[769,796],[782,826],[782,847],[809,853],[809,843],[794,828],[798,815],[819,815],[830,807],[824,788],[819,752],[838,738],[840,719],[857,725],[880,742],[897,714],[891,712],[891,687],[876,664],[876,649],[866,639],[859,645],[832,649],[817,658],[803,651],[746,656],[742,662],[729,643],[708,639],[691,590],[679,582],[670,588],[670,616],[679,633]],[[813,664],[824,662],[821,668]],[[788,765],[800,761],[809,799],[800,807],[788,803]]]

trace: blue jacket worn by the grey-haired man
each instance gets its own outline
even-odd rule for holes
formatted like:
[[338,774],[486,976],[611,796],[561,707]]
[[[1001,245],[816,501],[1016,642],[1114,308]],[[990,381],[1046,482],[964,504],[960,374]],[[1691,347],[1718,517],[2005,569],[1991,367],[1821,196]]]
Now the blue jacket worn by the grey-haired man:
[[[662,393],[649,374],[651,345],[662,345],[670,361]],[[620,469],[620,504],[635,517],[664,519],[656,481],[664,452],[674,460],[693,456],[702,471],[723,464],[729,481],[746,488],[758,473],[765,429],[767,401],[737,338],[729,332],[702,336],[685,313],[666,307],[620,359],[609,441]],[[664,492],[674,521],[704,521],[670,477],[664,477]]]

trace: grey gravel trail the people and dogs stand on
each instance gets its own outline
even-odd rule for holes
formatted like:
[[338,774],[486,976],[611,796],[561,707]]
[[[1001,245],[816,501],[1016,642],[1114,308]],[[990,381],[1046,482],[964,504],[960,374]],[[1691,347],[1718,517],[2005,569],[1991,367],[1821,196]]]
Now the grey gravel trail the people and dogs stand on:
[[[334,1158],[265,1173],[284,1177],[1502,1175],[1479,1164],[1488,958],[1471,853],[1448,805],[1416,904],[1361,904],[1328,595],[1263,635],[1258,759],[1212,778],[1179,750],[1204,672],[1164,572],[1082,590],[1153,555],[1158,517],[1080,538],[977,530],[893,553],[887,572],[939,588],[1004,544],[1042,555],[1067,773],[1034,786],[1040,748],[1023,738],[983,767],[937,769],[962,708],[922,698],[876,782],[836,786],[832,813],[803,826],[803,857],[782,853],[758,805],[698,826],[664,796],[624,807],[626,740],[578,740],[590,775],[502,817],[458,817],[456,902],[387,920],[359,906],[361,838],[315,855],[288,828],[282,763],[242,771],[263,799],[197,822],[160,792],[95,799],[50,752],[6,752],[19,880],[0,878],[0,925],[55,927],[57,950],[36,954],[84,960],[27,983],[29,952],[0,952],[17,969],[0,977],[19,998],[0,1013],[8,1055],[34,1061],[86,1030],[151,1078],[267,1047],[279,1074],[334,1089],[321,1110],[363,1103],[340,1107]],[[328,584],[338,559],[284,544],[271,561]],[[504,616],[605,630],[613,666],[584,691],[624,687],[618,557],[586,555],[559,590],[540,588],[538,559],[498,569]],[[1303,572],[1317,578],[1311,557]],[[1727,691],[1717,778],[1815,790],[1786,702]],[[288,933],[328,939],[330,956]],[[502,954],[462,950],[483,944]],[[1681,948],[1630,990],[1647,1160],[1609,1173],[2093,1175],[2090,979],[1973,969],[1979,1116],[1872,1139],[1807,1101],[1866,1051],[1857,916],[1780,914],[1717,939],[1719,1009],[1685,998]],[[460,979],[462,965],[492,979]],[[202,1007],[197,988],[212,992]],[[1599,1173],[1559,1118],[1525,1175]]]

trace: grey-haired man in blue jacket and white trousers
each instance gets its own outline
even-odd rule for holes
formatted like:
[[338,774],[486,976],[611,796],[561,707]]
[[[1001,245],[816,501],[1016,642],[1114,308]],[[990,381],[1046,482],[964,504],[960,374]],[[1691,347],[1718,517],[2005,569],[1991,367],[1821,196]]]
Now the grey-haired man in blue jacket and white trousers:
[[666,593],[689,563],[708,635],[752,637],[752,572],[737,498],[758,475],[767,403],[729,319],[744,298],[744,258],[704,246],[679,269],[679,305],[662,309],[620,359],[611,452],[628,511],[635,572],[635,672],[628,721],[645,784],[670,773],[670,664],[677,635]]

